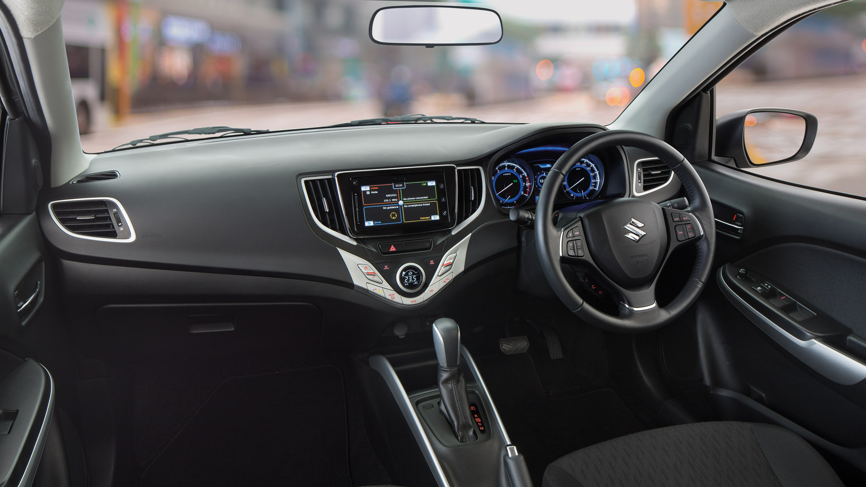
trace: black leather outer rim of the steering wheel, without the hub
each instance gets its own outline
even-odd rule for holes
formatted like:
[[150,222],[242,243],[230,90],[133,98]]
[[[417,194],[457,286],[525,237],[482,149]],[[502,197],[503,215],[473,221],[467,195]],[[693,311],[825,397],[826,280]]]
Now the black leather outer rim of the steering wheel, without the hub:
[[[619,315],[608,315],[603,311],[595,308],[589,302],[585,302],[584,298],[572,288],[572,284],[566,279],[562,269],[562,238],[565,228],[563,222],[553,223],[553,203],[559,190],[562,181],[578,161],[585,158],[587,154],[597,152],[601,149],[610,146],[630,146],[655,155],[662,160],[682,182],[682,186],[687,193],[688,208],[682,211],[688,211],[688,215],[694,218],[695,224],[698,224],[701,229],[701,234],[697,238],[691,239],[688,243],[694,243],[696,247],[695,266],[688,277],[688,281],[682,288],[680,293],[676,295],[672,302],[669,302],[665,307],[661,308],[654,302],[653,305],[643,308],[632,308],[626,302],[620,302],[618,305]],[[637,202],[637,198],[616,198],[628,199]],[[646,206],[646,202],[641,200],[641,205]],[[656,205],[656,204],[653,204]],[[658,205],[656,205],[658,206]],[[661,210],[661,207],[659,207]],[[664,210],[664,215],[671,215],[669,210]],[[572,220],[573,221],[573,220]],[[579,215],[578,215],[579,222]],[[625,223],[625,222],[624,222]],[[570,223],[565,223],[570,224]],[[651,291],[655,295],[655,284],[658,275],[664,263],[667,263],[670,252],[677,248],[681,243],[673,238],[674,224],[669,218],[665,218],[665,226],[669,230],[668,242],[664,250],[664,257],[652,276]],[[682,227],[682,225],[679,225]],[[613,229],[619,230],[619,229]],[[620,230],[620,232],[622,232]],[[643,233],[643,232],[641,232]],[[557,160],[553,168],[548,172],[545,180],[545,185],[541,188],[541,194],[536,206],[535,218],[535,237],[538,241],[538,252],[541,269],[550,282],[551,287],[559,299],[572,310],[572,313],[578,316],[583,321],[587,321],[599,328],[604,328],[615,332],[635,333],[649,331],[651,329],[660,328],[671,321],[674,321],[678,316],[691,307],[695,303],[705,283],[708,281],[713,266],[713,256],[715,251],[715,224],[713,207],[707,192],[701,182],[701,178],[695,172],[695,168],[676,151],[672,146],[669,146],[663,140],[659,140],[646,133],[634,132],[629,130],[610,130],[600,133],[594,133],[577,144],[572,146]],[[588,238],[588,235],[583,237]],[[694,241],[694,242],[692,242]],[[587,240],[587,256],[589,256],[591,245]],[[684,243],[682,243],[684,244]],[[605,282],[612,284],[614,288],[623,295],[628,295],[631,291],[624,286],[620,286],[611,281],[611,278],[606,276],[604,271],[594,267],[588,269],[597,271],[604,277]],[[645,286],[644,286],[645,287]],[[645,292],[645,291],[643,291]]]

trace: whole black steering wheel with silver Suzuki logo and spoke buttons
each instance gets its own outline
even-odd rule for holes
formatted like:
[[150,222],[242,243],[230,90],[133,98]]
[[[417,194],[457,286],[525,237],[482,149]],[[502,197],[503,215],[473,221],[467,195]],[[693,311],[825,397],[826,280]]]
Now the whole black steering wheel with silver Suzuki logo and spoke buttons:
[[[688,208],[614,198],[586,205],[554,224],[553,200],[565,174],[587,154],[609,146],[637,147],[661,159],[682,181]],[[616,332],[648,331],[682,315],[701,294],[715,251],[713,207],[695,168],[664,141],[629,130],[594,133],[559,157],[541,187],[535,237],[541,269],[559,299],[581,320]],[[679,295],[662,308],[656,302],[659,271],[683,245],[696,246],[695,266]],[[604,313],[578,295],[563,272],[569,266],[590,272],[617,293],[619,314]]]

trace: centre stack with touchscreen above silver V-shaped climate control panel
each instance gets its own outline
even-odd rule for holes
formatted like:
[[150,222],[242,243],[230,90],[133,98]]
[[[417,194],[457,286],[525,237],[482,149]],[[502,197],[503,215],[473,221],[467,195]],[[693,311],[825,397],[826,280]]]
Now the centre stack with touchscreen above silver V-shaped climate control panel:
[[346,231],[371,256],[339,250],[359,288],[416,306],[462,272],[469,237],[449,242],[457,224],[457,171],[439,165],[334,174]]

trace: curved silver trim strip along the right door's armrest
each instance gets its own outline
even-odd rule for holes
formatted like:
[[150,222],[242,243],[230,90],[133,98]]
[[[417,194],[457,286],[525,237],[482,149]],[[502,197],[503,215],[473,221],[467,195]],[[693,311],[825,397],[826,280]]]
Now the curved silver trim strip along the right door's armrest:
[[789,334],[779,325],[773,323],[772,320],[762,315],[757,309],[752,308],[749,304],[734,292],[725,282],[722,276],[722,269],[716,275],[716,280],[719,282],[719,287],[722,293],[727,296],[727,299],[734,303],[734,306],[748,316],[754,324],[758,325],[764,333],[770,335],[776,343],[779,343],[785,350],[791,352],[807,366],[815,369],[816,372],[824,375],[827,379],[842,384],[843,386],[853,386],[854,384],[866,379],[866,364],[860,360],[856,360],[841,350],[830,347],[823,341],[818,340],[799,340],[797,337]]

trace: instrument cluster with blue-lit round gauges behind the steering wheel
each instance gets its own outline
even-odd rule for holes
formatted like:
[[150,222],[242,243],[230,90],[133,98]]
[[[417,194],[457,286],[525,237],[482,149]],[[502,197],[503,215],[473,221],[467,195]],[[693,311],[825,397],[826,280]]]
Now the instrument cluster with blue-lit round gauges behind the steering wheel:
[[[548,145],[513,153],[494,166],[491,187],[502,208],[534,205],[541,194],[547,173],[569,146]],[[587,154],[565,174],[556,200],[587,201],[597,198],[604,186],[605,155]]]

